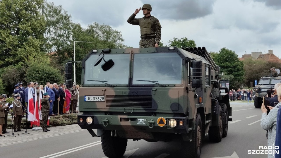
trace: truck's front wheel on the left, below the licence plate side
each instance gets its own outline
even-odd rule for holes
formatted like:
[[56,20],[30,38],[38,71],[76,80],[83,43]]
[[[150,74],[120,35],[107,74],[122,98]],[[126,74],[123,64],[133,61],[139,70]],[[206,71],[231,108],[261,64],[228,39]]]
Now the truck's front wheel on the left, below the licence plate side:
[[123,157],[127,148],[127,139],[112,137],[110,130],[102,130],[102,150],[107,157]]

